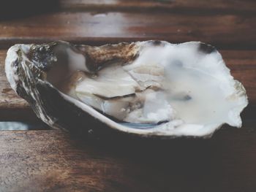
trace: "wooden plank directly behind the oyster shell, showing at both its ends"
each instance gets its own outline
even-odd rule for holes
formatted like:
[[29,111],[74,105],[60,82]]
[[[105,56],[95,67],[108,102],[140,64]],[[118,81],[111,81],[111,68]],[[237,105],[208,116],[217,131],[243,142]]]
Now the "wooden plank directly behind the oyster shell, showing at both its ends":
[[[256,51],[220,50],[233,76],[246,88],[249,102],[256,104]],[[7,50],[0,50],[0,120],[35,120],[29,104],[10,88],[4,73]]]

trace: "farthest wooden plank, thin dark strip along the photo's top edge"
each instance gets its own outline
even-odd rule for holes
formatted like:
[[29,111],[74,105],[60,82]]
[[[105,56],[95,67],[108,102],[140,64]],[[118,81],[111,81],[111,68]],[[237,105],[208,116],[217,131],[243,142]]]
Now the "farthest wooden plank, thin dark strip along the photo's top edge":
[[0,16],[5,16],[4,18],[6,18],[6,16],[7,18],[18,18],[20,15],[33,15],[40,12],[55,10],[94,12],[178,12],[185,15],[255,15],[255,9],[256,2],[252,0],[23,0],[22,2],[8,0],[1,4]]

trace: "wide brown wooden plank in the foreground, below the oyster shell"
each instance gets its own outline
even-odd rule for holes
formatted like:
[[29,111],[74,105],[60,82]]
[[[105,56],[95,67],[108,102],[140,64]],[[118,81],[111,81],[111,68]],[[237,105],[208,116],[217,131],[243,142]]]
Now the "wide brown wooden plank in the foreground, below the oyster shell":
[[0,131],[0,191],[254,191],[255,137],[255,127],[164,141]]

